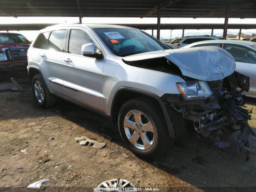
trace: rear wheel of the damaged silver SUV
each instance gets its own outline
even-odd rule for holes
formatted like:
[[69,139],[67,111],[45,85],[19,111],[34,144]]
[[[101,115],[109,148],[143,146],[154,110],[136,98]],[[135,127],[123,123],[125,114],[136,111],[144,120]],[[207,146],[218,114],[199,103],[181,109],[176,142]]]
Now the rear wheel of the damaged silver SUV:
[[56,98],[52,96],[40,74],[36,74],[33,77],[32,92],[36,103],[40,107],[46,108],[56,103]]

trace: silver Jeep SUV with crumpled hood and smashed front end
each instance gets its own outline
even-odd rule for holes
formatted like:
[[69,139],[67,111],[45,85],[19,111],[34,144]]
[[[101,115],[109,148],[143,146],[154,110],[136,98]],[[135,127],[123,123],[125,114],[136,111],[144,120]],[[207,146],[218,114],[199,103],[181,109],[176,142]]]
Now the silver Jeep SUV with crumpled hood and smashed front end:
[[125,26],[51,26],[28,50],[41,107],[60,97],[109,116],[127,148],[145,158],[166,152],[187,131],[222,147],[224,134],[241,130],[238,148],[248,154],[250,115],[236,88],[247,91],[250,80],[234,70],[234,58],[221,48],[170,50]]

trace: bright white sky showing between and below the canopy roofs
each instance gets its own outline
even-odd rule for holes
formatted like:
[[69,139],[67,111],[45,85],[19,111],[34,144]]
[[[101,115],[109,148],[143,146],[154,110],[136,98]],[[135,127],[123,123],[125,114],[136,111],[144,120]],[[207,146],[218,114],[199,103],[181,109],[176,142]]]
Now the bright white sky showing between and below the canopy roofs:
[[[79,22],[78,17],[0,17],[0,24],[20,24],[20,23],[74,23]],[[95,18],[95,17],[84,17],[82,18],[82,23],[84,24],[136,24],[136,23],[150,23],[156,24],[157,18]],[[224,23],[224,18],[161,18],[161,23]],[[256,19],[239,19],[230,18],[228,20],[230,24],[255,24]],[[152,30],[145,30],[149,34]],[[17,32],[17,31],[9,31]],[[239,29],[230,29],[228,33],[238,34]],[[256,29],[242,30],[243,33],[256,33]],[[24,35],[28,40],[34,40],[37,36],[38,31],[19,31],[18,33]],[[198,34],[211,34],[211,30],[185,30],[184,35],[195,35]],[[223,33],[222,29],[215,29],[214,35],[220,35]],[[154,35],[156,35],[156,30],[154,30]],[[170,38],[170,30],[161,30],[160,36],[164,38]],[[182,36],[182,30],[172,30],[172,38]]]

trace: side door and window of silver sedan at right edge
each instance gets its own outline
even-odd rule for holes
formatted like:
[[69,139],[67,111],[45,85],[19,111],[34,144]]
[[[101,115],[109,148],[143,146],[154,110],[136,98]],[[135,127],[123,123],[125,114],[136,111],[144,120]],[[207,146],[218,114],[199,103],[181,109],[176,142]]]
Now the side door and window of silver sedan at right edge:
[[256,51],[246,46],[228,43],[224,43],[223,48],[234,57],[236,71],[250,77],[248,94],[256,95]]

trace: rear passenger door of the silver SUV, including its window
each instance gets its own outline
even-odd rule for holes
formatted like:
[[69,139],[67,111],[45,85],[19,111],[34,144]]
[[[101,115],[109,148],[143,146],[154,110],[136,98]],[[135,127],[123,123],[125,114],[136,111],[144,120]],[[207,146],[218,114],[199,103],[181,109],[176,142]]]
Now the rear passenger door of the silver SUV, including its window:
[[62,56],[64,54],[66,33],[66,29],[52,31],[46,49],[41,50],[38,56],[38,63],[48,89],[50,92],[59,95],[64,92]]

